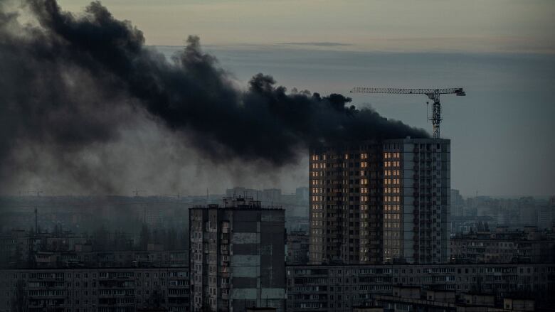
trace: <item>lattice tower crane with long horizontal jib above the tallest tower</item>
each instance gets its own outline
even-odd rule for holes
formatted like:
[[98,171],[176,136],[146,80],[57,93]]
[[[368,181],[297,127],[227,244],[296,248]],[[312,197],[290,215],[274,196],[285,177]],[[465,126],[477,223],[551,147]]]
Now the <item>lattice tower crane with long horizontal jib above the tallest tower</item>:
[[449,87],[444,89],[404,89],[394,87],[354,87],[351,93],[386,93],[389,95],[426,95],[433,100],[432,105],[432,121],[433,138],[439,139],[439,125],[441,122],[441,104],[439,102],[440,95],[457,95],[464,97],[466,95],[462,87]]

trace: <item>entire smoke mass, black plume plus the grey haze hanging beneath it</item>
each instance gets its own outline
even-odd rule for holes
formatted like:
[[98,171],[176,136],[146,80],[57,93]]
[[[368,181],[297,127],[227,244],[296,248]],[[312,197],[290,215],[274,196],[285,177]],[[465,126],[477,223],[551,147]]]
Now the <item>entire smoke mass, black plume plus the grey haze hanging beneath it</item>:
[[0,6],[2,193],[271,181],[316,142],[428,136],[343,95],[287,92],[269,75],[238,87],[195,36],[169,61],[100,2],[79,15],[54,0],[21,8]]

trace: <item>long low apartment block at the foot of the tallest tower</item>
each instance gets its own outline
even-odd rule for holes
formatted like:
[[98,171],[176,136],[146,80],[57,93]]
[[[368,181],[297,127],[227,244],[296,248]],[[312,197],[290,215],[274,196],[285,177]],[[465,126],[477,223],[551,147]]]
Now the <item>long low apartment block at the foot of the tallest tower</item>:
[[396,286],[479,292],[501,300],[532,294],[540,305],[555,292],[555,264],[381,264],[287,266],[287,311],[352,311]]

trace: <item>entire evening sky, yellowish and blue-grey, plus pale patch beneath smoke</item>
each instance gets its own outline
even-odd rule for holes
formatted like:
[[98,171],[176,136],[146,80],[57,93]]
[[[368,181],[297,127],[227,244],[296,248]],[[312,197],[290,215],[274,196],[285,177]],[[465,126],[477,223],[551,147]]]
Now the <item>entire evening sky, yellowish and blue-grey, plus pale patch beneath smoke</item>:
[[[75,12],[88,2],[59,0],[63,9]],[[452,188],[467,196],[555,195],[553,1],[129,3],[102,1],[116,18],[143,31],[147,45],[167,56],[180,50],[187,36],[200,36],[203,48],[242,87],[258,72],[273,75],[289,90],[323,95],[348,94],[355,86],[464,87],[467,97],[442,97],[442,136],[452,140]],[[424,96],[349,96],[356,107],[370,106],[388,118],[431,130]],[[140,169],[159,161],[181,167],[178,174],[174,167],[125,171],[122,190],[129,193],[134,188],[148,190],[147,195],[204,193],[208,187],[218,193],[234,185],[292,192],[308,182],[307,158],[258,173],[255,167],[235,161],[214,164],[177,148],[156,125],[122,136],[133,143],[105,146],[103,152],[144,145],[164,153],[132,150],[129,154],[139,156],[126,159],[125,165]],[[214,178],[217,172],[222,175]],[[45,183],[34,177],[29,187]]]

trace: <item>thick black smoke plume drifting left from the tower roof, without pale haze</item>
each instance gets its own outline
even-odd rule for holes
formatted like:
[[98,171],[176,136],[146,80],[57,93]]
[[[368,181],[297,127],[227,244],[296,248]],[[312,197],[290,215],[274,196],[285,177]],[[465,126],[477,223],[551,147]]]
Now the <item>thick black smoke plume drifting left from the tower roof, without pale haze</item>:
[[[17,174],[6,164],[29,146],[74,164],[78,183],[96,181],[97,174],[71,158],[117,140],[139,115],[186,137],[213,161],[276,166],[295,161],[299,149],[315,142],[427,136],[374,110],[355,109],[343,95],[287,93],[269,75],[253,76],[240,90],[203,53],[198,37],[168,61],[100,2],[79,16],[55,0],[24,4],[36,25],[21,25],[18,13],[0,5],[0,186]],[[38,153],[25,166],[32,171],[40,162]]]

